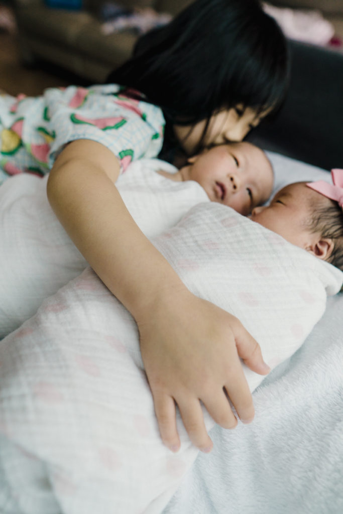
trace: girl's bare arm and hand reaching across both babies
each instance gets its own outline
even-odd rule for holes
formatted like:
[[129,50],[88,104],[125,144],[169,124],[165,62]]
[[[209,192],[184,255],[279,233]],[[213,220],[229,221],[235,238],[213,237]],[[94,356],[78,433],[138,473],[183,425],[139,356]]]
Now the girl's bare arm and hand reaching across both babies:
[[179,447],[175,403],[192,442],[212,447],[203,401],[221,426],[251,421],[254,406],[239,356],[260,374],[268,372],[257,342],[241,323],[201,300],[139,230],[114,183],[119,161],[100,143],[69,143],[53,166],[47,193],[71,239],[100,279],[135,318],[143,362],[164,443]]

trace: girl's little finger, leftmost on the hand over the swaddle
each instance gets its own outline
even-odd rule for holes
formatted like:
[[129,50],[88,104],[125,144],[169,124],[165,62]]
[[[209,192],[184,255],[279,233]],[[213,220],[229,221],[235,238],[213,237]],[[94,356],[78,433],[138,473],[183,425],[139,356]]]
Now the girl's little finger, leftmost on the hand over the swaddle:
[[154,394],[155,413],[159,433],[164,445],[176,452],[180,448],[180,438],[176,428],[175,402],[171,396],[163,393]]

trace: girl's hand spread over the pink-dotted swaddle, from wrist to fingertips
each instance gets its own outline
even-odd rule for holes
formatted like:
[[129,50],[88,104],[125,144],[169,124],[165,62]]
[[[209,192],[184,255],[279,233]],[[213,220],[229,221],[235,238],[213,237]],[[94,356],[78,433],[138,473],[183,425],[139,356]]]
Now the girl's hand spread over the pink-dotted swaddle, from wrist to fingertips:
[[161,438],[172,451],[179,449],[176,403],[193,444],[209,452],[200,400],[216,423],[234,428],[237,419],[226,392],[240,419],[249,423],[254,406],[239,357],[251,370],[267,374],[260,346],[237,318],[187,289],[159,298],[149,310],[138,328]]

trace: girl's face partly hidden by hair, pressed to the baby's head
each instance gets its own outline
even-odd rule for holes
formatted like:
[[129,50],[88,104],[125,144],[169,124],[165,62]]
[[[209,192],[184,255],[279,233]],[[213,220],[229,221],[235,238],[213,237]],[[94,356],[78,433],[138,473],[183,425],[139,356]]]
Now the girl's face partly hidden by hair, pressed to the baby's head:
[[[241,104],[213,114],[203,139],[203,146],[223,144],[227,141],[242,141],[251,128],[257,126],[266,114],[267,112],[258,115],[255,109],[251,107],[243,109]],[[188,155],[195,152],[205,126],[206,120],[194,126],[174,126],[175,135]]]

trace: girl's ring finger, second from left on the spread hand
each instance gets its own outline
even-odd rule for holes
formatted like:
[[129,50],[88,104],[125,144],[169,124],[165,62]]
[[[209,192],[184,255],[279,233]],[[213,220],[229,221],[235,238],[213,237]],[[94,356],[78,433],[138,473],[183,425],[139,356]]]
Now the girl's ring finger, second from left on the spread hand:
[[213,443],[205,427],[200,401],[197,398],[187,398],[186,395],[184,395],[177,405],[193,445],[201,451],[206,453],[210,452],[213,448]]

